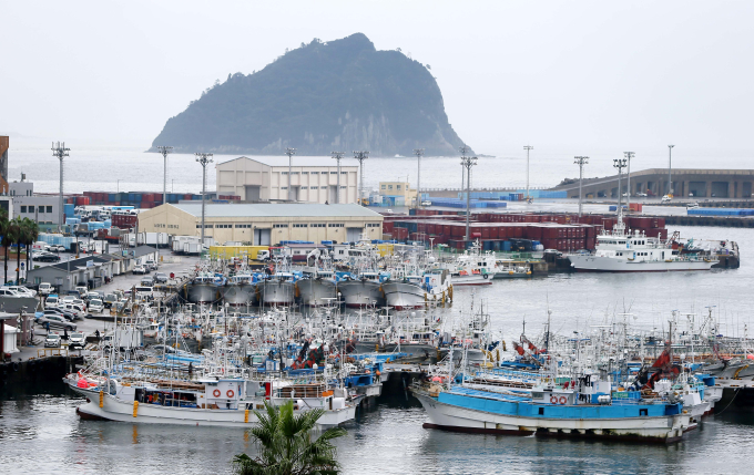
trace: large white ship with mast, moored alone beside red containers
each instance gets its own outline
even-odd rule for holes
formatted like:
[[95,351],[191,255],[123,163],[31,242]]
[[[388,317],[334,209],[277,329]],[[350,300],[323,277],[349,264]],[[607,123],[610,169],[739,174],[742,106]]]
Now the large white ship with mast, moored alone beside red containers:
[[580,272],[666,272],[672,270],[710,270],[717,260],[712,257],[681,255],[670,244],[644,233],[625,228],[619,210],[612,231],[597,237],[593,254],[568,256],[571,267]]

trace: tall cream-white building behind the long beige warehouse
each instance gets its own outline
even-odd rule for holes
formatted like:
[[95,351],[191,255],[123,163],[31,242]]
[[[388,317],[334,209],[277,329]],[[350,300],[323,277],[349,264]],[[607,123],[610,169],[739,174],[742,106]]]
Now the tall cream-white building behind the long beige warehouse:
[[245,156],[220,163],[217,195],[236,195],[244,202],[288,200],[306,203],[356,203],[358,165],[353,158],[340,161],[340,200],[338,202],[338,167],[334,158],[293,157],[292,195],[288,198],[288,157]]

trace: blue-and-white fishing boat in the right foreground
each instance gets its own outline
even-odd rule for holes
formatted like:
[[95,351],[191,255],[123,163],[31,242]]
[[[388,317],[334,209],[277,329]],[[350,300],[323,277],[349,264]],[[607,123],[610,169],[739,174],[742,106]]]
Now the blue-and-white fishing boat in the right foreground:
[[531,396],[438,381],[415,384],[411,392],[427,412],[426,428],[670,443],[691,424],[681,401],[643,400],[639,391],[613,397],[610,382],[590,375],[575,384],[537,386]]

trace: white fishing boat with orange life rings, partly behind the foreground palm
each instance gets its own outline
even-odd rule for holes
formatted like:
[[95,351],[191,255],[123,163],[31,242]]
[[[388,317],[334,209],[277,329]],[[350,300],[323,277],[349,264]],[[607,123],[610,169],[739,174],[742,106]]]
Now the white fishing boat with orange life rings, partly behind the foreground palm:
[[86,397],[77,412],[82,419],[140,424],[248,427],[254,410],[264,403],[294,403],[294,413],[323,409],[320,426],[353,420],[356,405],[342,389],[324,383],[296,384],[288,380],[203,378],[197,381],[125,381],[69,374],[69,386]]

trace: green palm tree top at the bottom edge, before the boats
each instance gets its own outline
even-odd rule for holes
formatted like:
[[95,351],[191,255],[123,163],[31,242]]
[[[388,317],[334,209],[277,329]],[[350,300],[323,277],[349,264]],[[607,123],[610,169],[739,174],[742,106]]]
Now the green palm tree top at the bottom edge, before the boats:
[[254,411],[258,424],[249,431],[258,448],[255,458],[246,454],[233,457],[237,475],[304,475],[337,474],[339,464],[332,441],[346,434],[345,428],[332,427],[313,441],[312,431],[325,413],[315,409],[299,415],[293,413],[293,402],[274,406],[265,402],[266,413]]

